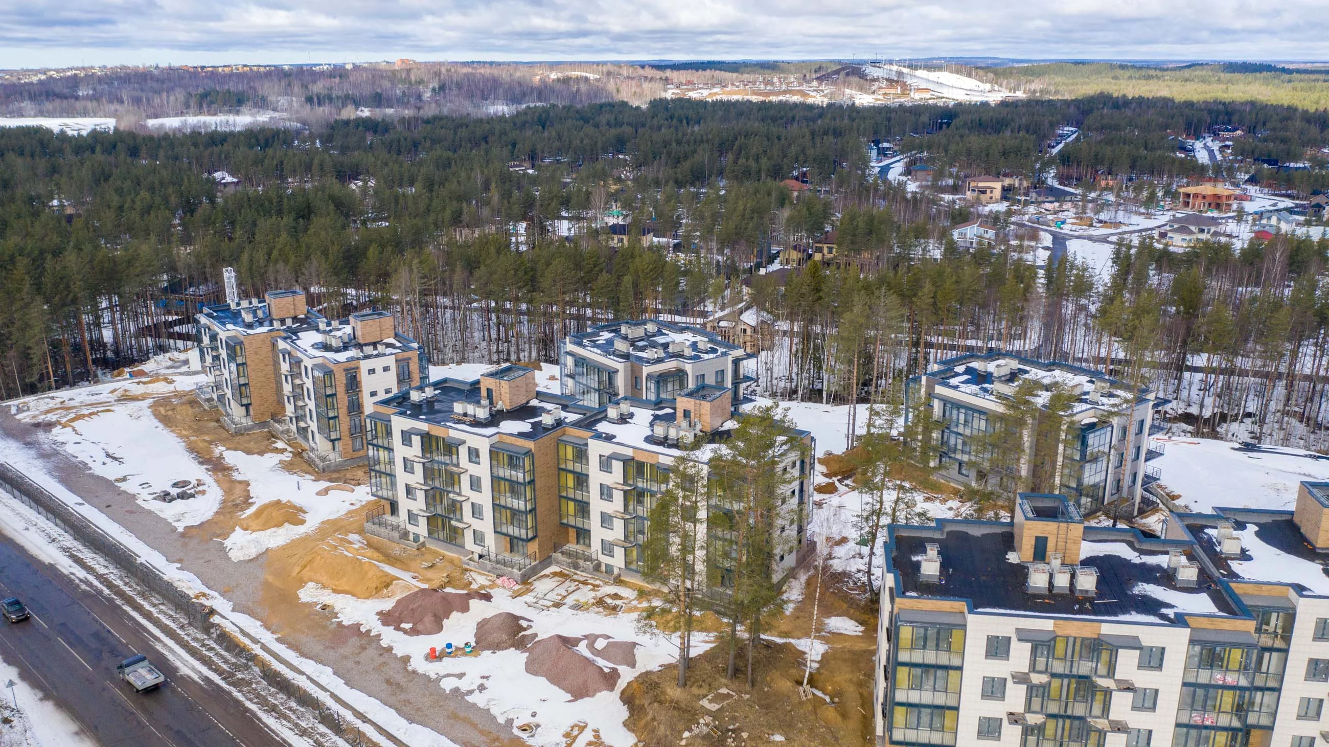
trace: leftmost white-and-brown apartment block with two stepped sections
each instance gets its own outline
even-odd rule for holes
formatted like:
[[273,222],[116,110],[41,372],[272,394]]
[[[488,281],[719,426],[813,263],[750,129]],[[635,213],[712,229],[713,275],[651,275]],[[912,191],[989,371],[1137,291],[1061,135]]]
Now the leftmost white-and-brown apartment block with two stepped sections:
[[427,377],[415,340],[399,334],[387,311],[361,311],[344,322],[307,307],[304,294],[268,291],[206,306],[197,315],[199,359],[211,383],[205,404],[222,409],[233,433],[270,428],[318,469],[367,459],[364,415],[369,401]]

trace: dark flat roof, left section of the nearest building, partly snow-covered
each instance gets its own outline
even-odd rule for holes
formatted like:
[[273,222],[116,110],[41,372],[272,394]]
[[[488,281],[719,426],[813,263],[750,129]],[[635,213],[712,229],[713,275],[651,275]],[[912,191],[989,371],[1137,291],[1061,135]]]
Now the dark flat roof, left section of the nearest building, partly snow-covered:
[[[1195,587],[1172,581],[1170,548],[1188,542],[1147,541],[1134,529],[1086,528],[1079,565],[1098,570],[1094,597],[1027,591],[1027,566],[1007,558],[1015,549],[1010,522],[938,520],[936,528],[896,525],[888,536],[888,570],[896,574],[897,597],[968,599],[974,611],[1120,622],[1177,623],[1180,614],[1240,614],[1203,568]],[[924,581],[920,573],[930,542],[940,546],[940,582]]]

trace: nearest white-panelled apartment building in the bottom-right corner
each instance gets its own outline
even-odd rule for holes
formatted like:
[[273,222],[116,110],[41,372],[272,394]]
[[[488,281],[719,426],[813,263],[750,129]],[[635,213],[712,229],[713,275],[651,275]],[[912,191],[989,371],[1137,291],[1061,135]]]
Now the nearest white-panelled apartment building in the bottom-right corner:
[[1026,493],[1011,521],[888,528],[878,744],[1329,742],[1329,484],[1162,538],[1080,518]]

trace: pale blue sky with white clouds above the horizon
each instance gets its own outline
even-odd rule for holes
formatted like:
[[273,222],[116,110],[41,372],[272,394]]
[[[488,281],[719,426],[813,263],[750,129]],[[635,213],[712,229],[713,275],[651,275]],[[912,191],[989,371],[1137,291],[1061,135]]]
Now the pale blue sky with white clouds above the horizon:
[[999,56],[1329,60],[1329,0],[0,0],[0,68]]

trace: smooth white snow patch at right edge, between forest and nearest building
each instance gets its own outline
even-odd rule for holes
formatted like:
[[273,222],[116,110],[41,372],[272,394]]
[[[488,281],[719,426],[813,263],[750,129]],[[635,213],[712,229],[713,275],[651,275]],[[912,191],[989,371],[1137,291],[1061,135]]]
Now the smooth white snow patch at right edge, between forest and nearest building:
[[1292,510],[1302,480],[1329,480],[1329,460],[1310,459],[1310,452],[1290,448],[1233,451],[1228,441],[1212,439],[1159,439],[1166,452],[1154,465],[1159,481],[1177,493],[1177,502],[1192,512],[1213,506]]

